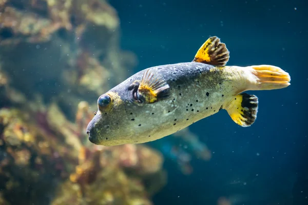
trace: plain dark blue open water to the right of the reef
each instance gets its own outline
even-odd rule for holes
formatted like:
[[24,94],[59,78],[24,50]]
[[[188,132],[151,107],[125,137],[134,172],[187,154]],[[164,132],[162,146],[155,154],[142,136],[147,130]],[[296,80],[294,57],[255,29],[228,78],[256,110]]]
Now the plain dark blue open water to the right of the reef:
[[292,78],[286,89],[248,92],[259,97],[252,127],[237,126],[226,111],[192,125],[213,157],[194,159],[188,176],[167,159],[168,184],[155,204],[217,204],[221,196],[237,200],[232,204],[308,204],[307,1],[110,3],[120,16],[122,48],[139,59],[131,73],[191,61],[217,35],[230,51],[228,65],[275,65]]

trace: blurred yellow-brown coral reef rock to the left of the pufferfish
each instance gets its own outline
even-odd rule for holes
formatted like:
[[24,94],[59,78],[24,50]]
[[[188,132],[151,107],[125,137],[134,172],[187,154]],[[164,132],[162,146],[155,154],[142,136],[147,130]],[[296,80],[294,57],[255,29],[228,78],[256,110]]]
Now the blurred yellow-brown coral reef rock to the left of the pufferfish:
[[0,1],[0,204],[152,204],[162,154],[85,133],[137,63],[119,33],[106,1]]

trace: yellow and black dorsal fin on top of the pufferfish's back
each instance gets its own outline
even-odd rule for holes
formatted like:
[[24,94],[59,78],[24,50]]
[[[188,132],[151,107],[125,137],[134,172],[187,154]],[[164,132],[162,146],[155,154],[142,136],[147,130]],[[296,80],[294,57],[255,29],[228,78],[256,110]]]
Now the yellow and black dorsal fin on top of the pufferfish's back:
[[213,66],[225,66],[229,60],[229,51],[217,36],[209,37],[198,50],[193,61]]

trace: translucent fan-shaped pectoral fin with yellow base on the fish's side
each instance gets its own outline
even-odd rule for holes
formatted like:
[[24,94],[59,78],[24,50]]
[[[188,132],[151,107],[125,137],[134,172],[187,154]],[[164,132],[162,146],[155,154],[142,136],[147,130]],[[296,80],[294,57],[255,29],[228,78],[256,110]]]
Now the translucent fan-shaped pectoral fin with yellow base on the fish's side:
[[148,69],[142,76],[138,92],[146,103],[155,103],[170,95],[170,87],[156,69]]

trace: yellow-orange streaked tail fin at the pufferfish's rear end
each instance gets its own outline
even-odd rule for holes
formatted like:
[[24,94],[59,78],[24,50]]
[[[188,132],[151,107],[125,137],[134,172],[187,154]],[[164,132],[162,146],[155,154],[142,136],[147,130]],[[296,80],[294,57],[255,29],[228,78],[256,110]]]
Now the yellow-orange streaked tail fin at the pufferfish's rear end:
[[248,90],[274,90],[290,86],[291,77],[281,68],[269,65],[249,66],[254,75]]

